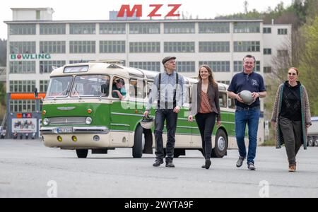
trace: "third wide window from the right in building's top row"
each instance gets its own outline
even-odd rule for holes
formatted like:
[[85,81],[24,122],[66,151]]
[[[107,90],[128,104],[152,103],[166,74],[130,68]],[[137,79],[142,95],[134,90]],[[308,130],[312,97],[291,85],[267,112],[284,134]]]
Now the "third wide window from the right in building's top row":
[[165,34],[195,33],[194,23],[164,23]]

